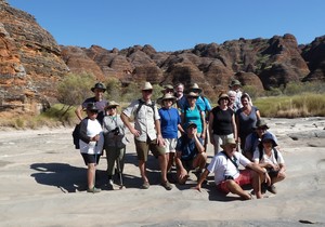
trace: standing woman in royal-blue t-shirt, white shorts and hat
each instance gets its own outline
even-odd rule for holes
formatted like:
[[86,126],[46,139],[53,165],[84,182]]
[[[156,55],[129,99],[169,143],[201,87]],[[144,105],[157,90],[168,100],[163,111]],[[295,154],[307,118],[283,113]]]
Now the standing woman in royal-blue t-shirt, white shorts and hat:
[[167,172],[170,171],[176,153],[178,132],[184,134],[181,125],[181,118],[177,108],[172,107],[176,97],[166,93],[161,98],[162,107],[159,109],[161,135],[165,142],[165,152],[167,160]]

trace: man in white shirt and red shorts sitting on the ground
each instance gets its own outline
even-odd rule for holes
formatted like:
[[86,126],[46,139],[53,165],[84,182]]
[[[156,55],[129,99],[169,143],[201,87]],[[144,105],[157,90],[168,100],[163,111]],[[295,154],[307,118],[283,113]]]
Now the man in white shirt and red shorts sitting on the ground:
[[[268,171],[236,151],[236,146],[234,138],[225,141],[222,145],[223,151],[218,152],[213,157],[210,164],[202,174],[195,189],[200,191],[203,182],[209,173],[213,173],[217,189],[224,195],[232,192],[238,195],[243,200],[250,200],[252,199],[252,195],[244,190],[242,186],[251,185],[256,197],[258,199],[262,198],[261,183],[266,182],[271,185]],[[239,170],[239,164],[245,169]]]

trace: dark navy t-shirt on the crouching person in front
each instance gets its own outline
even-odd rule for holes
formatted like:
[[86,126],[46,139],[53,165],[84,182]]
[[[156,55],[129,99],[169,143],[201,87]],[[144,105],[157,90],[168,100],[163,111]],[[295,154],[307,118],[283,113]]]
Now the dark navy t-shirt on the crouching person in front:
[[[200,137],[198,137],[198,141],[200,144],[203,144],[203,139]],[[194,138],[188,138],[188,136],[182,135],[179,139],[178,139],[178,144],[176,147],[177,151],[181,151],[182,152],[182,160],[192,160],[196,157],[196,155],[198,153],[198,150],[195,146],[195,139]]]

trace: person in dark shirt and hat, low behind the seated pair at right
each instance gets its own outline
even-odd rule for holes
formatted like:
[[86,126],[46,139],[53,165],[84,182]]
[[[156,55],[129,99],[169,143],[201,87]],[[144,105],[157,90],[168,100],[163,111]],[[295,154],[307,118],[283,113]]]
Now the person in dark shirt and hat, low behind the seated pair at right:
[[269,126],[264,119],[258,119],[253,129],[255,132],[246,136],[245,147],[243,150],[244,156],[249,160],[252,160],[253,151],[258,148],[260,141],[265,133],[269,133],[277,143],[276,136],[272,132],[268,131]]

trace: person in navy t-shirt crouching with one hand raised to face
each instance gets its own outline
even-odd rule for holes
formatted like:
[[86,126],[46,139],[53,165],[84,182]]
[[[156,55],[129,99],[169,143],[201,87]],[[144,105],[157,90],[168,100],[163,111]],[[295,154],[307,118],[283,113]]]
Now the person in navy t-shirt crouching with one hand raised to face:
[[203,146],[203,139],[197,136],[196,123],[190,122],[186,132],[187,134],[182,135],[178,139],[176,147],[177,178],[179,184],[185,184],[190,170],[197,169],[196,175],[199,178],[207,163],[207,153]]

